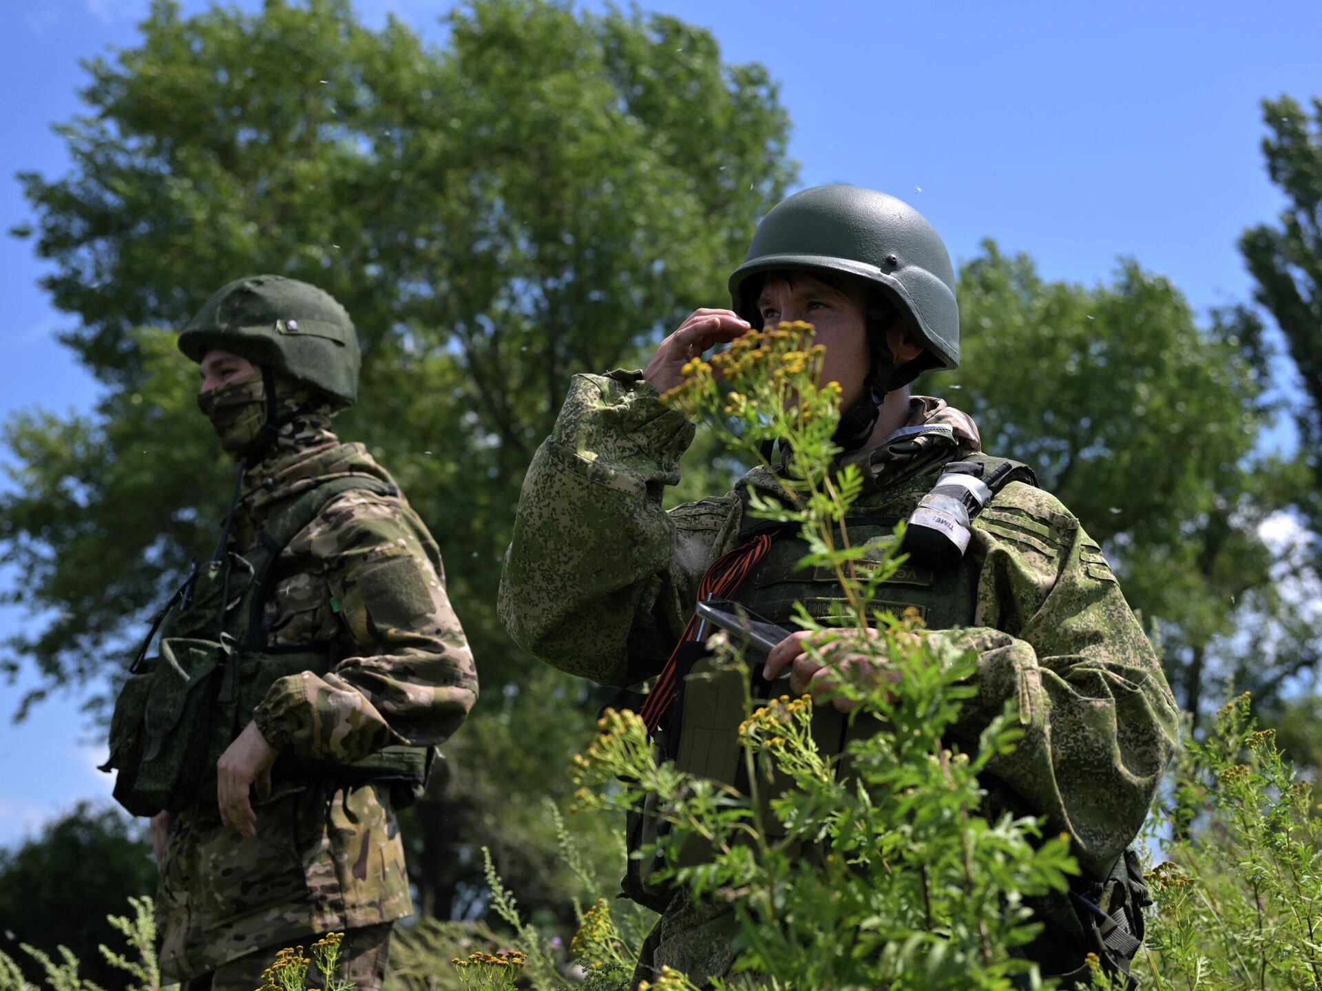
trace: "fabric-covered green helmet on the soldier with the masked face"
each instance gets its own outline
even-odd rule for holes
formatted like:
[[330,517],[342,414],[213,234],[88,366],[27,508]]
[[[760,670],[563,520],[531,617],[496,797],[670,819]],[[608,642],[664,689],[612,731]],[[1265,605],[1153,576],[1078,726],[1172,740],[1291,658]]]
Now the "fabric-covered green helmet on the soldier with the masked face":
[[362,352],[353,320],[334,296],[283,275],[253,275],[217,290],[178,336],[201,363],[221,348],[330,396],[358,397]]

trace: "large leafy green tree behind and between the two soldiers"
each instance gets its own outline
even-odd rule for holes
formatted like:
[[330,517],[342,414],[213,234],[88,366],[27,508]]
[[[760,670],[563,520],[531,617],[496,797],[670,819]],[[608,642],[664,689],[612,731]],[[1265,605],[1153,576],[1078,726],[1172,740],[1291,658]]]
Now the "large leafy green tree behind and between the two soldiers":
[[395,20],[364,28],[348,0],[188,17],[157,0],[136,46],[86,65],[87,112],[57,128],[71,171],[21,176],[34,222],[16,233],[52,263],[63,343],[106,392],[86,417],[11,421],[0,496],[3,598],[53,617],[7,663],[40,672],[38,695],[114,679],[226,495],[168,328],[242,274],[334,294],[366,351],[340,430],[436,533],[483,680],[448,795],[414,814],[442,916],[473,905],[479,834],[526,904],[550,904],[554,839],[527,798],[562,786],[599,704],[494,618],[531,452],[570,373],[636,361],[723,298],[795,176],[767,70],[723,62],[706,30],[538,0],[444,21],[436,48]]

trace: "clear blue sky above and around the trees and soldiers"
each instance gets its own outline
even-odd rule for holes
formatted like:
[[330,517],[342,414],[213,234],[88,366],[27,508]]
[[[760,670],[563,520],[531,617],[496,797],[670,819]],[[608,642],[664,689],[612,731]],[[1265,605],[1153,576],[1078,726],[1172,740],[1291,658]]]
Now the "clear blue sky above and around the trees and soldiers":
[[[30,217],[15,172],[65,168],[50,124],[78,112],[78,60],[131,45],[147,5],[0,4],[0,91],[9,97],[0,229]],[[1235,239],[1281,208],[1259,150],[1259,101],[1322,94],[1315,0],[641,5],[709,26],[727,60],[771,66],[805,185],[845,180],[908,200],[957,261],[992,236],[1032,254],[1048,278],[1091,283],[1133,255],[1200,308],[1249,296]],[[393,11],[434,38],[448,7],[357,4],[369,24]],[[0,417],[86,409],[97,394],[52,339],[73,319],[50,308],[41,274],[28,242],[0,236]],[[0,585],[12,580],[0,572]],[[0,636],[22,622],[0,610]],[[0,685],[0,844],[78,798],[108,794],[93,769],[99,746],[78,742],[78,695],[13,728],[3,720],[21,687]]]

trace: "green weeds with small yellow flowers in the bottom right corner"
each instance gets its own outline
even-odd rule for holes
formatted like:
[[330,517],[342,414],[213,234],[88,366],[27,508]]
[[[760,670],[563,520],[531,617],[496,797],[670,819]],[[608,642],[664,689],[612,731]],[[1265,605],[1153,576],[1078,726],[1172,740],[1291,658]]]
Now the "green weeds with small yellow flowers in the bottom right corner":
[[1158,988],[1322,988],[1322,816],[1244,693],[1187,740],[1174,840],[1149,873]]

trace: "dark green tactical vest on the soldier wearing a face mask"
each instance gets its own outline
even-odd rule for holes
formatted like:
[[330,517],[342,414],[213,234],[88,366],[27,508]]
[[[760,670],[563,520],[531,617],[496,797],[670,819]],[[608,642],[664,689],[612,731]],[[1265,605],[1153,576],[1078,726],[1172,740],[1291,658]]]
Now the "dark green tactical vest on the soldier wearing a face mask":
[[[152,622],[130,677],[115,701],[110,758],[118,770],[115,799],[134,815],[214,806],[215,762],[253,718],[271,685],[304,671],[325,675],[329,643],[268,647],[266,603],[284,546],[338,495],[366,490],[397,495],[371,478],[324,482],[271,516],[254,546],[225,552],[196,569]],[[160,630],[155,658],[147,651]],[[276,758],[276,778],[324,778],[342,783],[385,779],[401,798],[420,791],[431,763],[427,748],[390,746],[353,765]]]

